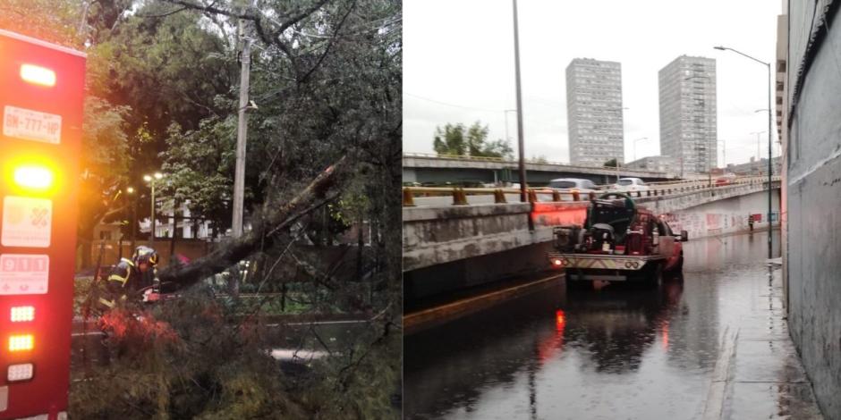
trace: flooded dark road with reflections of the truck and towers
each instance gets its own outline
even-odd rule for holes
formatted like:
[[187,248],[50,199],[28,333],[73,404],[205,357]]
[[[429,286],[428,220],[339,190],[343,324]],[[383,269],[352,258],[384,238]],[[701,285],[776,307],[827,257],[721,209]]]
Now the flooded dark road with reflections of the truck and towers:
[[769,292],[780,284],[767,240],[691,240],[683,280],[659,289],[566,290],[561,281],[408,336],[404,416],[701,418],[726,326],[787,337],[779,294]]

